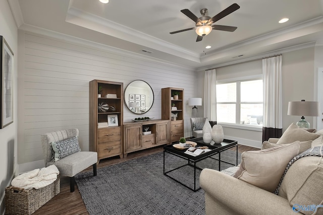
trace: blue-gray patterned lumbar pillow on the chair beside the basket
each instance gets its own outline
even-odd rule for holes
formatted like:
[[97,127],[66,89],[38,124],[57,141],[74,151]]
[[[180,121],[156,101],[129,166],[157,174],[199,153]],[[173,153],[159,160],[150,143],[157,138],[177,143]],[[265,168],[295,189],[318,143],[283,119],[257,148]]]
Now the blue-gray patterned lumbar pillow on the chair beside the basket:
[[50,144],[55,152],[55,161],[58,161],[68,155],[72,155],[73,153],[81,152],[77,136],[73,136],[70,139],[65,139],[58,142],[51,142]]

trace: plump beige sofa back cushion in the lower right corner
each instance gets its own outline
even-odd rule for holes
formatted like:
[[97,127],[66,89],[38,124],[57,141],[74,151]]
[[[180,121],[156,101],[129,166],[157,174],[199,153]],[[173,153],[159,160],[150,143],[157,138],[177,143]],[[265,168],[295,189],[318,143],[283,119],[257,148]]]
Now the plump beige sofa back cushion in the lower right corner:
[[[278,195],[290,205],[318,205],[323,201],[323,158],[308,156],[291,165],[282,181]],[[323,208],[320,208],[323,209]],[[312,214],[313,211],[301,211]],[[321,213],[317,213],[321,214]]]

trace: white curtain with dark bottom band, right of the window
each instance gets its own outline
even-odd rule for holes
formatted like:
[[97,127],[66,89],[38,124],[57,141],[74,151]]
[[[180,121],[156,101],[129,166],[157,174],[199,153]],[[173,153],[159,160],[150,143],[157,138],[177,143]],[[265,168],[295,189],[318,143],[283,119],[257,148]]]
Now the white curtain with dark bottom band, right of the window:
[[282,55],[262,59],[262,141],[282,135]]

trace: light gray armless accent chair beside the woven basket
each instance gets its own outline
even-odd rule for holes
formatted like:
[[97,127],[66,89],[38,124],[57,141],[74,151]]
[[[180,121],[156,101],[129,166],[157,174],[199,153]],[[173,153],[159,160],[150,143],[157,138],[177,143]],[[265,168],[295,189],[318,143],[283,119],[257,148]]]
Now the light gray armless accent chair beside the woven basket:
[[59,130],[49,132],[41,135],[41,144],[44,154],[45,167],[54,164],[60,171],[60,175],[70,177],[70,189],[74,192],[75,178],[74,176],[88,168],[93,166],[93,175],[96,176],[96,163],[97,153],[96,152],[76,152],[72,155],[68,155],[58,161],[53,160],[53,150],[51,142],[62,141],[65,139],[72,138],[79,135],[77,128]]

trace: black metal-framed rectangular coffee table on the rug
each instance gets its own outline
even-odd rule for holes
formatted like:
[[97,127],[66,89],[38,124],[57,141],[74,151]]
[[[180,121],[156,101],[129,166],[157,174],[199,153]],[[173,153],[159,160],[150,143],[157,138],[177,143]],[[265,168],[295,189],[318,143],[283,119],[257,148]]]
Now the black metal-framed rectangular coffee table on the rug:
[[[224,139],[221,142],[221,144],[214,144],[213,146],[210,145],[210,144],[205,144],[203,142],[202,137],[192,138],[192,139],[189,139],[189,141],[196,142],[197,143],[196,147],[207,146],[211,151],[202,153],[201,155],[198,155],[198,156],[191,156],[191,155],[188,155],[188,154],[185,153],[187,149],[181,150],[181,149],[173,147],[173,145],[164,146],[164,175],[172,178],[173,180],[175,180],[176,182],[178,182],[178,183],[182,184],[183,186],[189,188],[190,190],[196,192],[199,189],[201,189],[201,187],[196,188],[196,169],[198,169],[198,170],[202,170],[202,169],[200,167],[197,167],[196,163],[198,163],[198,162],[200,162],[200,161],[202,161],[204,159],[207,159],[207,158],[212,158],[214,160],[218,160],[219,161],[219,171],[221,170],[221,162],[225,162],[225,163],[228,163],[228,164],[238,166],[238,142],[237,141],[230,140],[230,139]],[[178,142],[176,142],[176,144],[177,143]],[[228,150],[228,149],[234,148],[234,147],[236,147],[236,151],[237,151],[236,164],[221,160],[221,153]],[[177,167],[175,169],[171,169],[171,170],[166,172],[165,171],[165,153],[170,153],[170,154],[175,155],[175,156],[177,156],[179,158],[187,160],[188,162],[185,165],[182,165],[182,166]],[[212,157],[212,156],[215,156],[215,155],[219,155],[219,158]],[[194,187],[193,188],[187,186],[183,182],[177,180],[176,178],[174,178],[174,177],[172,177],[172,176],[170,176],[168,174],[170,172],[173,172],[173,171],[178,170],[178,169],[180,169],[182,167],[185,167],[185,166],[192,166],[194,168]]]

